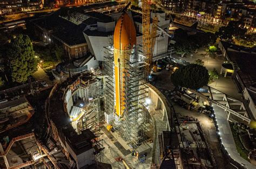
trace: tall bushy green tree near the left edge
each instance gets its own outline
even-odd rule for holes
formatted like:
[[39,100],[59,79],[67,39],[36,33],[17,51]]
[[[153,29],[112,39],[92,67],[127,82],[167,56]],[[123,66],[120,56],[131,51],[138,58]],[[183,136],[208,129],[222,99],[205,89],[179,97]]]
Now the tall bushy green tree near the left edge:
[[8,50],[12,81],[25,82],[37,70],[37,61],[28,36],[19,34],[11,40]]

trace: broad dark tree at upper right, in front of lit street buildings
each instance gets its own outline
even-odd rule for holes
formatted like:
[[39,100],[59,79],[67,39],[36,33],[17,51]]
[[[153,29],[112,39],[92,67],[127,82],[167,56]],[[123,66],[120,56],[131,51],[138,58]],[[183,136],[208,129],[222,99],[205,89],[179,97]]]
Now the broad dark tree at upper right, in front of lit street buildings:
[[219,31],[216,32],[221,40],[231,41],[233,37],[239,38],[244,36],[247,32],[245,24],[240,21],[230,21],[227,26],[220,27]]

